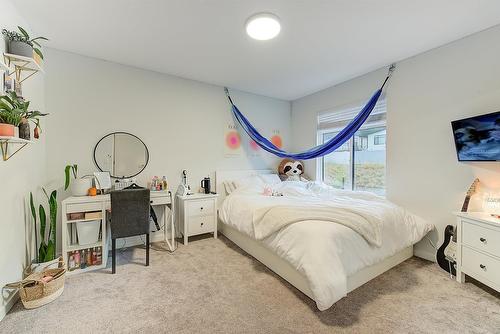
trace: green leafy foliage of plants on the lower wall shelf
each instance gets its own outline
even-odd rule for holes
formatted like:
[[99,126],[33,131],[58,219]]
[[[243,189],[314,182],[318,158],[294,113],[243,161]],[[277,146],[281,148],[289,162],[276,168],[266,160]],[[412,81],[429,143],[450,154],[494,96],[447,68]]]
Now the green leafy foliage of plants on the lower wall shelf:
[[[16,92],[0,96],[0,123],[19,126],[23,119],[31,120],[35,130],[40,130],[40,117],[47,116],[38,110],[29,110],[30,101],[25,101]],[[38,138],[37,136],[35,136]]]

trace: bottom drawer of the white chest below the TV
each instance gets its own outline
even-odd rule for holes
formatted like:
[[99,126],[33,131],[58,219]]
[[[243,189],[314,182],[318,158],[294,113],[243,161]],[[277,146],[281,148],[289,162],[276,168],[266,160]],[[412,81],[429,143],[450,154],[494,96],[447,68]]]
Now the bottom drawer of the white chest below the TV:
[[462,248],[462,270],[472,276],[486,278],[500,286],[500,260],[468,247]]

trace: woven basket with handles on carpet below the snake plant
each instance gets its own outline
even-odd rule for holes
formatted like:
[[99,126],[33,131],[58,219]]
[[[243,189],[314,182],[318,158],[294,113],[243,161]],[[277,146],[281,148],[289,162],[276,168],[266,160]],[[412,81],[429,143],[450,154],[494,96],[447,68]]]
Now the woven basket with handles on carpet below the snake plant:
[[[19,296],[27,309],[37,308],[50,303],[59,297],[64,291],[64,280],[66,269],[62,257],[59,258],[59,268],[44,269],[42,272],[33,273],[24,280],[9,283],[9,288],[19,289]],[[53,279],[45,283],[44,276],[52,276]]]

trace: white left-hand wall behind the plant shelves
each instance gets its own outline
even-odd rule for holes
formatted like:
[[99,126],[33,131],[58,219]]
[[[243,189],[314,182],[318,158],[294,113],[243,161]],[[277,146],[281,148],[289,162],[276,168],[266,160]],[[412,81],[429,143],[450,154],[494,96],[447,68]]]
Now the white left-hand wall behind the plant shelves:
[[[29,29],[11,2],[0,0],[0,29],[15,30],[18,25]],[[3,54],[4,49],[4,43],[0,42],[0,54]],[[43,86],[44,78],[40,74],[23,83],[24,97],[31,101],[34,109],[42,112],[45,111]],[[33,130],[33,126],[31,128]],[[44,121],[42,128],[45,128]],[[40,196],[40,186],[44,185],[46,176],[44,134],[35,144],[25,147],[12,159],[0,159],[0,288],[8,282],[22,279],[23,269],[31,258],[31,250],[28,251],[26,246],[25,203],[30,191],[44,200]],[[31,226],[27,227],[29,234]],[[2,289],[0,320],[15,300],[13,297],[8,290]]]

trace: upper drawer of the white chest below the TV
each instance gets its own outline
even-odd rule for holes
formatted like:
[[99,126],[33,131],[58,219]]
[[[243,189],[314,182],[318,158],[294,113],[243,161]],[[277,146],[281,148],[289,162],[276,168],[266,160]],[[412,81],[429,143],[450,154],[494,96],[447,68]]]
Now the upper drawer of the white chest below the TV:
[[462,222],[462,242],[483,252],[500,257],[500,229]]

